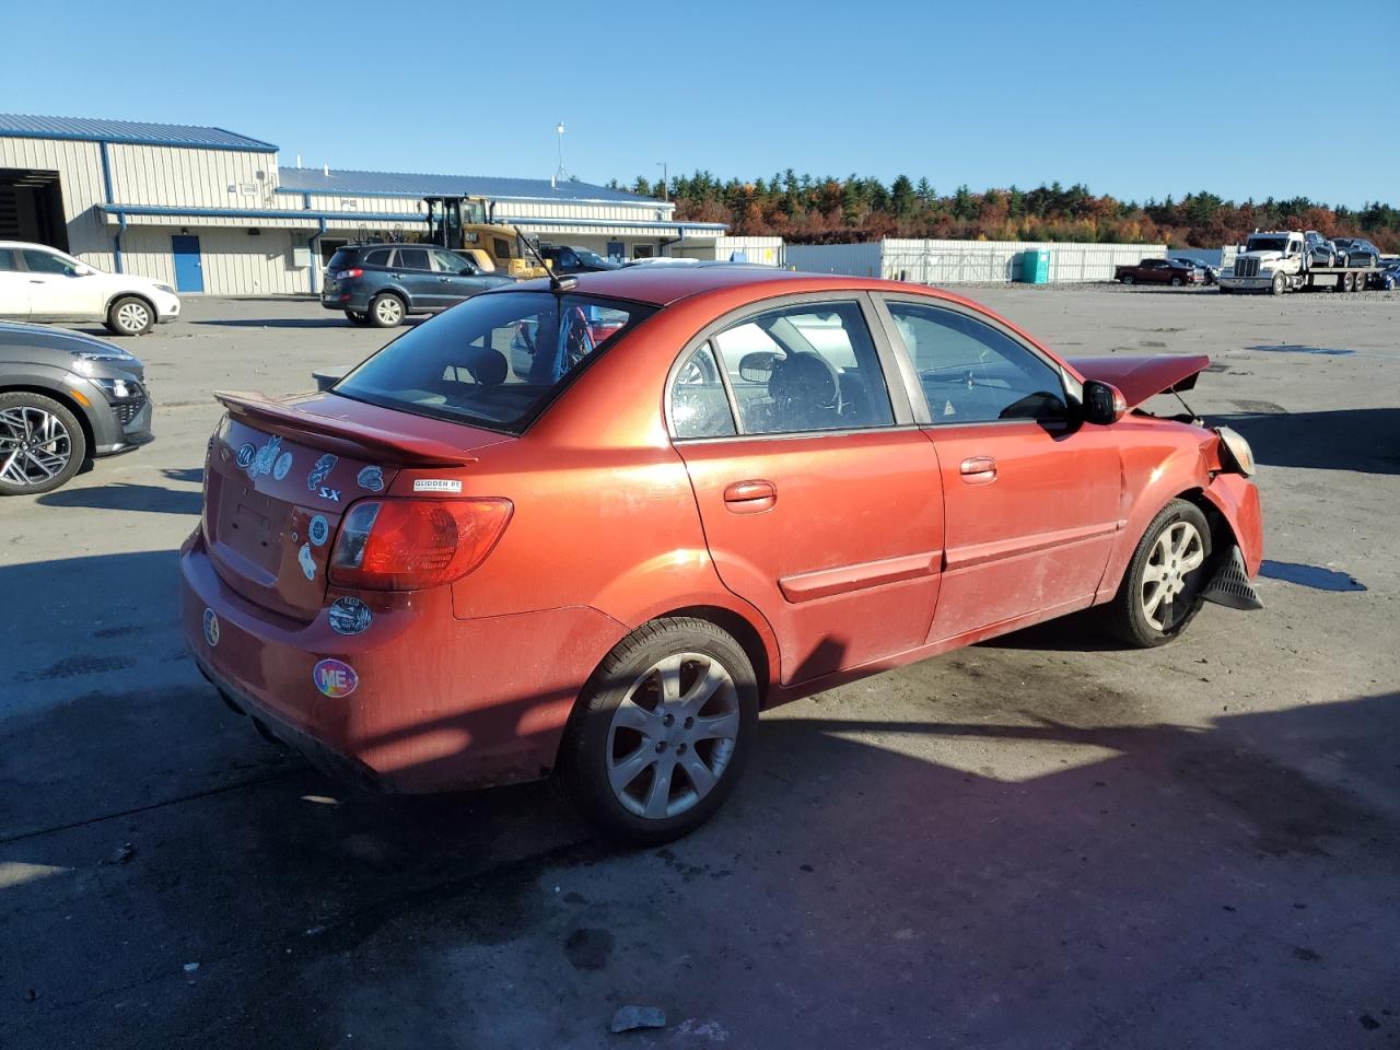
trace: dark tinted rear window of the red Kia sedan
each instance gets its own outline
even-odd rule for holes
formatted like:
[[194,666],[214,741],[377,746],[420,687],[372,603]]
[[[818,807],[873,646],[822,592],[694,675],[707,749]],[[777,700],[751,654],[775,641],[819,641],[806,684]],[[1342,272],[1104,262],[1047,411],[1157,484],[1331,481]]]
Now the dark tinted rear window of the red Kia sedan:
[[477,295],[389,343],[335,392],[519,434],[591,360],[654,312],[547,291]]

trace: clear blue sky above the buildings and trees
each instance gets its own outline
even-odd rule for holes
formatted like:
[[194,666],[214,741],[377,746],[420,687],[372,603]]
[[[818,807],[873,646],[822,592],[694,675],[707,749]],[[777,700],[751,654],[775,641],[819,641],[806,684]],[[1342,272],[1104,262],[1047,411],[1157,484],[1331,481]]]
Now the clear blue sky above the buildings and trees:
[[588,182],[664,160],[1400,204],[1400,0],[120,7],[8,4],[0,111],[217,125],[339,168],[547,178],[563,120]]

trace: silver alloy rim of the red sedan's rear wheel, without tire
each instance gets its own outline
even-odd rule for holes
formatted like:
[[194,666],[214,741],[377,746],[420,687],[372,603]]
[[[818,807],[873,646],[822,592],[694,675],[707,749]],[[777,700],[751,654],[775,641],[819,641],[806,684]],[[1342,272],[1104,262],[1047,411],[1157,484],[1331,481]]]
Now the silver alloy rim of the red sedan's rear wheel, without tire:
[[637,676],[608,729],[608,781],[631,813],[678,816],[708,795],[739,736],[739,694],[711,655],[682,652]]

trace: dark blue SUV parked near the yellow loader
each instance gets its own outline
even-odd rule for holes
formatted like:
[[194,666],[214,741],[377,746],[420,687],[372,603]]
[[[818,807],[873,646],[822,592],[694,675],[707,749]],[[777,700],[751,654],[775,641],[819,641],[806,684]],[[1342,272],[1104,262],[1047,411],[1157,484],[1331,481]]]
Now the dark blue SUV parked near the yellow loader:
[[410,314],[440,314],[514,279],[483,273],[466,255],[426,244],[346,245],[326,265],[321,305],[356,325],[398,328]]

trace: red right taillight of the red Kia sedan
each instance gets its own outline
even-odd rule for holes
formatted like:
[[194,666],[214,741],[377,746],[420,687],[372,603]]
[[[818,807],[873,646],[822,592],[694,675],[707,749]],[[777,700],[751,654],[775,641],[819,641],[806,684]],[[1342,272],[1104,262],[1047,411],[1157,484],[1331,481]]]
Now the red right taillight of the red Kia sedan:
[[510,500],[364,500],[340,522],[330,582],[421,591],[476,568],[505,531]]

